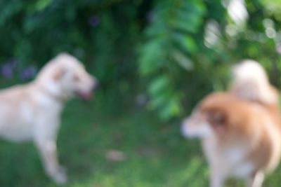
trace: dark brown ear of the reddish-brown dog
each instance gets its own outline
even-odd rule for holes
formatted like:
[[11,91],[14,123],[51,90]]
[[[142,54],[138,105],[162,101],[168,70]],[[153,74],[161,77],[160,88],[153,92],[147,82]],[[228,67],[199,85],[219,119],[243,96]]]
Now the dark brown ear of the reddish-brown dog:
[[227,125],[227,116],[223,111],[210,111],[209,112],[209,123],[211,123],[214,130],[218,134],[224,134]]

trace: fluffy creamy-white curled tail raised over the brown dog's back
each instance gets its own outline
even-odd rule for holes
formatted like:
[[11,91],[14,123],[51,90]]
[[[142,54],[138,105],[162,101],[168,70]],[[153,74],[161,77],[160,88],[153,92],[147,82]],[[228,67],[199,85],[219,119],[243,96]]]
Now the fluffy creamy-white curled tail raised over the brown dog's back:
[[243,60],[233,67],[230,92],[249,101],[277,104],[278,92],[270,85],[266,71],[259,62]]

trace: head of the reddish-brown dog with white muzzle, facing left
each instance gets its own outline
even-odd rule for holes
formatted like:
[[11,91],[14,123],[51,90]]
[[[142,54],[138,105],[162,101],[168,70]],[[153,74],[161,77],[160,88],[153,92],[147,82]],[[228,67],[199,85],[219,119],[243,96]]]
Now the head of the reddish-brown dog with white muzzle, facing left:
[[[207,96],[192,114],[183,120],[181,130],[185,137],[222,136],[229,125],[228,100],[232,97],[223,93]],[[230,104],[229,103],[229,104]]]

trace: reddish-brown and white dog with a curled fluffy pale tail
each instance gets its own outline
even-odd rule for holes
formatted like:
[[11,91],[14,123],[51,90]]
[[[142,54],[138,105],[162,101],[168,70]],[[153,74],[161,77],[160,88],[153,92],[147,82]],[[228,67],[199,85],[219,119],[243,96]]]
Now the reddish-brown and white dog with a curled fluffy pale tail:
[[202,139],[211,187],[223,186],[230,177],[260,187],[281,155],[277,91],[257,62],[242,62],[234,73],[230,91],[204,98],[184,120],[182,131],[185,137]]

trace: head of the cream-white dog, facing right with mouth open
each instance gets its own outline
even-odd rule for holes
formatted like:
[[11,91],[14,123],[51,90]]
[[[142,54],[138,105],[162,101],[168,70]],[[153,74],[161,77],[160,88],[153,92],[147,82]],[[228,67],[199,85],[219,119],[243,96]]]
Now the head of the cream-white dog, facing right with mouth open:
[[37,85],[55,97],[63,100],[77,95],[90,99],[96,85],[96,78],[88,74],[84,65],[67,53],[60,53],[39,72]]

